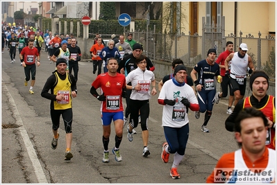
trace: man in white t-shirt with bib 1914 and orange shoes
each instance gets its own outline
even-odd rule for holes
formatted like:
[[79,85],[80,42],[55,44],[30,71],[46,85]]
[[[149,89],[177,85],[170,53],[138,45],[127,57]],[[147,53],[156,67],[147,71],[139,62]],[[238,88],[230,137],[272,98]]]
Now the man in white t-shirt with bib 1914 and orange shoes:
[[187,69],[178,65],[174,69],[174,78],[167,80],[162,86],[158,103],[165,105],[162,111],[162,127],[167,142],[162,144],[162,161],[168,163],[169,154],[174,154],[170,176],[179,179],[178,165],[185,156],[185,148],[189,137],[189,120],[186,109],[199,110],[194,90],[185,83]]

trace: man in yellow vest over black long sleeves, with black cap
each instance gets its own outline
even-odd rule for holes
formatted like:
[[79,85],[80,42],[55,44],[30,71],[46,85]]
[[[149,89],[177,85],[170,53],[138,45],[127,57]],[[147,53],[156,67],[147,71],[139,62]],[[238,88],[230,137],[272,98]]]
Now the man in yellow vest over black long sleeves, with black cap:
[[[74,76],[70,73],[66,73],[67,60],[64,58],[58,58],[56,62],[56,71],[47,79],[41,96],[51,100],[50,114],[52,120],[53,140],[51,142],[51,148],[56,150],[58,146],[58,139],[60,134],[58,128],[60,127],[60,115],[65,124],[65,160],[69,161],[73,155],[71,152],[72,147],[72,97],[77,96],[76,81]],[[49,93],[51,90],[51,93]]]

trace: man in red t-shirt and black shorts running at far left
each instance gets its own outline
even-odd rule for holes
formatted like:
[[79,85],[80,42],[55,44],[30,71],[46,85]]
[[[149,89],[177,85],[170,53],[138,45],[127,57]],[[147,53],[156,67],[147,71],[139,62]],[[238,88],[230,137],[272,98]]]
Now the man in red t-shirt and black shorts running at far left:
[[35,85],[35,56],[37,58],[37,67],[40,66],[40,54],[38,53],[37,49],[33,46],[34,39],[28,39],[28,46],[24,47],[19,54],[19,58],[22,62],[22,66],[24,67],[25,71],[25,81],[24,85],[28,85],[28,80],[30,80],[30,73],[31,73],[31,87],[29,90],[30,94],[34,94],[33,86]]

